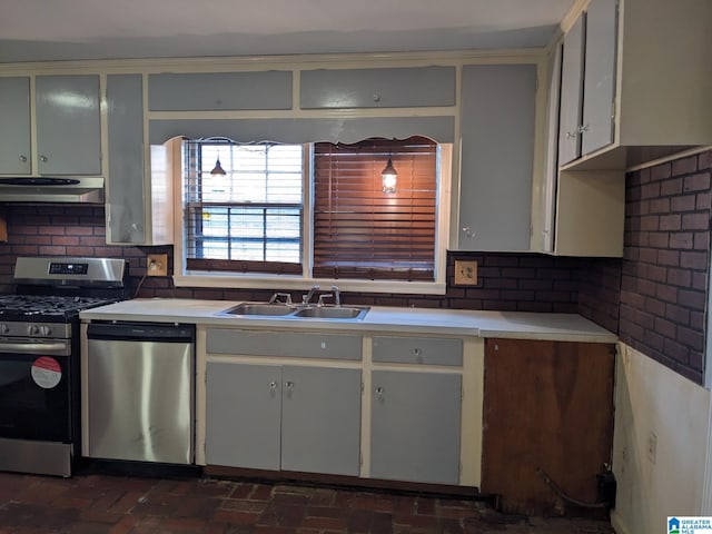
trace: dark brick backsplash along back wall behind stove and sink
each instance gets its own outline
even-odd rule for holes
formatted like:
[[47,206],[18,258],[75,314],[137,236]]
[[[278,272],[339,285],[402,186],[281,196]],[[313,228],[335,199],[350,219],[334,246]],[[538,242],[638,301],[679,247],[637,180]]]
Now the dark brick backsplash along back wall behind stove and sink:
[[[105,243],[103,208],[89,206],[8,206],[9,240],[0,244],[0,290],[12,290],[12,266],[17,256],[73,255],[121,257],[130,264],[131,293],[141,297],[187,297],[217,299],[266,299],[274,289],[239,290],[174,288],[169,278],[141,278],[146,254],[168,253],[172,247],[118,247]],[[479,283],[474,287],[453,285],[454,258],[478,261]],[[528,254],[451,254],[447,294],[383,295],[345,294],[350,304],[385,306],[453,307],[575,313],[578,284],[585,260]],[[138,287],[140,284],[140,288]],[[295,296],[301,291],[295,291]]]

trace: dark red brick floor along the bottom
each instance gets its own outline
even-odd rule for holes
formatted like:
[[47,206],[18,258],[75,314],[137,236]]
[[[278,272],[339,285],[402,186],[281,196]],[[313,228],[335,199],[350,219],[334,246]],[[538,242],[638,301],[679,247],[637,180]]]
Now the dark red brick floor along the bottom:
[[217,478],[0,473],[0,534],[611,534],[605,521],[500,514],[488,503]]

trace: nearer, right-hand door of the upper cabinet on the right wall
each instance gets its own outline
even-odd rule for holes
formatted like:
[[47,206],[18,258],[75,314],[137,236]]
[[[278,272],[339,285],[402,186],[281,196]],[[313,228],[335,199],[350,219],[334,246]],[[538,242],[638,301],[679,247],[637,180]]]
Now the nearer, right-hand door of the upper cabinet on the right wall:
[[616,34],[617,0],[592,0],[586,11],[583,156],[613,142]]

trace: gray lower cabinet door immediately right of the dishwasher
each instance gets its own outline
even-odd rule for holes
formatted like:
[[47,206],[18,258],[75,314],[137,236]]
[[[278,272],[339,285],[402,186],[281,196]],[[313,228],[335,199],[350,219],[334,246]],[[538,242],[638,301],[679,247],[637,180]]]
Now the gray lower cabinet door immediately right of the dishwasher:
[[279,469],[281,367],[208,362],[206,463]]

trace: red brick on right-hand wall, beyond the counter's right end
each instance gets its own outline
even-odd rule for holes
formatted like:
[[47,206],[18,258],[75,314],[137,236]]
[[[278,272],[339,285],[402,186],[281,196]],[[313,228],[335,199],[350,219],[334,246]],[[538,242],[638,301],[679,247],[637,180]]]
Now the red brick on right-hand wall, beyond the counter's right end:
[[712,151],[629,172],[621,339],[702,384]]

